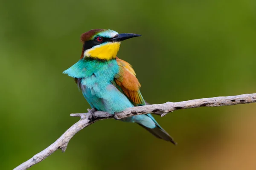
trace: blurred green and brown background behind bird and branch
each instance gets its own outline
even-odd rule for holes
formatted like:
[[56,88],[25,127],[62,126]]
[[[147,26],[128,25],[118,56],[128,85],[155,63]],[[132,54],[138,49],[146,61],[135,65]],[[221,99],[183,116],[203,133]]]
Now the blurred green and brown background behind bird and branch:
[[[0,169],[58,139],[90,106],[62,71],[80,35],[110,28],[151,104],[255,93],[255,0],[1,0]],[[113,119],[85,128],[31,170],[255,170],[256,104],[175,111],[157,121],[178,142]]]

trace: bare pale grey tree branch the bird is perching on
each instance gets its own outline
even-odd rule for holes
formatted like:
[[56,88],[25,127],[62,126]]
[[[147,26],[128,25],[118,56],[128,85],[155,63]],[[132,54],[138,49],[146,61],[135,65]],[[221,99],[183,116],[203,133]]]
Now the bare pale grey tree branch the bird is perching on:
[[61,149],[64,152],[67,149],[67,144],[70,139],[82,130],[94,122],[102,119],[122,119],[129,116],[135,116],[146,113],[162,113],[161,116],[165,116],[167,113],[188,108],[199,108],[199,107],[218,107],[218,106],[229,106],[256,102],[256,94],[242,94],[239,96],[226,96],[226,97],[212,97],[204,99],[194,99],[183,102],[166,102],[158,105],[145,105],[134,108],[127,108],[125,111],[120,113],[110,114],[102,111],[96,111],[95,109],[88,109],[88,113],[75,113],[70,116],[81,117],[81,119],[72,125],[59,139],[57,139],[49,147],[41,151],[40,153],[33,156],[31,159],[20,164],[14,170],[26,170],[34,164],[39,163],[46,159],[49,155],[54,153],[56,150]]

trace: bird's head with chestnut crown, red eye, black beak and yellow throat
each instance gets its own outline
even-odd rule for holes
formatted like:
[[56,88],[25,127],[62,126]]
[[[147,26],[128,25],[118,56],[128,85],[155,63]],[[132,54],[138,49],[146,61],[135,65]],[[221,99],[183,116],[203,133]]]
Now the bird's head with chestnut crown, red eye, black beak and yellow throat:
[[81,59],[90,57],[94,59],[110,60],[116,58],[120,42],[139,34],[118,34],[110,29],[93,29],[81,35],[83,50]]

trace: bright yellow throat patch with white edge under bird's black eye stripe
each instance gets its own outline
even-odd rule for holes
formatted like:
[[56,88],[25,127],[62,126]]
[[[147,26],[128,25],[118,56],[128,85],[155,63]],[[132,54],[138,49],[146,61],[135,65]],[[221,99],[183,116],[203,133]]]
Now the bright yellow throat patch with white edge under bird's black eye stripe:
[[84,57],[110,60],[116,58],[120,42],[107,42],[84,51]]

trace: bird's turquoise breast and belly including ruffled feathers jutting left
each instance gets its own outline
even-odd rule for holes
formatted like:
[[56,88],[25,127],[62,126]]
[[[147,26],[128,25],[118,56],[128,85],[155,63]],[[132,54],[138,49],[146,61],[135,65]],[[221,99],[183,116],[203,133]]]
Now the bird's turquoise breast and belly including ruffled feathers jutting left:
[[115,59],[110,61],[81,59],[63,73],[79,79],[78,84],[84,98],[92,108],[113,114],[134,106],[111,83],[118,72],[119,66]]

